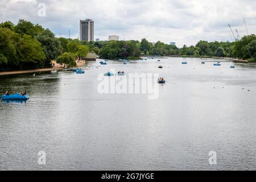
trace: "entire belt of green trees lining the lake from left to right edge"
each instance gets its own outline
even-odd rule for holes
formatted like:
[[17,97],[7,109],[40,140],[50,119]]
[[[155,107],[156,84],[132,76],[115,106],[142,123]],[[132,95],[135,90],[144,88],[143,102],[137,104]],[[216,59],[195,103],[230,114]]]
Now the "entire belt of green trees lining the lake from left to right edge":
[[100,41],[56,38],[39,24],[19,20],[0,23],[0,71],[14,71],[51,67],[51,61],[75,66],[94,52],[102,59],[139,59],[141,56],[234,57],[256,61],[256,36],[244,36],[237,42],[207,42],[200,40],[195,46],[178,48],[162,42]]

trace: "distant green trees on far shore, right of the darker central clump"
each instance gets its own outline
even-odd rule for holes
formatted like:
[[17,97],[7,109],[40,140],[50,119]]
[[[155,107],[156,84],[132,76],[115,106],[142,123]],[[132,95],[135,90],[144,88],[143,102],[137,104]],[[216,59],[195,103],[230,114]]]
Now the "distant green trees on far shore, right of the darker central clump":
[[144,55],[159,56],[216,56],[234,57],[238,59],[249,59],[256,61],[256,36],[244,36],[237,42],[207,42],[200,40],[196,46],[177,48],[173,45],[157,42],[154,45],[146,39],[142,39],[140,50]]

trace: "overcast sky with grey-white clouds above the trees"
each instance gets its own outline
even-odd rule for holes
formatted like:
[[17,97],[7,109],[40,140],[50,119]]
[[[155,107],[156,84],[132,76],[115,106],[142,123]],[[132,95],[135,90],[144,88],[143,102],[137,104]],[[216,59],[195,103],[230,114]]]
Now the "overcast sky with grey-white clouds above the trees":
[[[38,16],[39,3],[46,16]],[[231,41],[228,23],[246,35],[256,33],[255,0],[0,0],[0,22],[30,20],[57,37],[79,36],[79,20],[94,20],[94,39],[119,35],[122,40],[148,39],[177,46],[199,40]]]

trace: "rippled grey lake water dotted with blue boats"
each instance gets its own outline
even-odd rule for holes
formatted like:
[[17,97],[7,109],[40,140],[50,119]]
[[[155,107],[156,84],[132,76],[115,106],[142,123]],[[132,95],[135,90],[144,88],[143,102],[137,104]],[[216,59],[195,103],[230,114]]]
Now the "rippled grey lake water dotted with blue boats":
[[[0,169],[255,170],[256,65],[161,60],[1,76],[1,93],[26,89],[30,100],[0,101]],[[97,76],[110,69],[159,73],[167,82],[156,100],[100,94]],[[46,165],[38,164],[39,151]]]

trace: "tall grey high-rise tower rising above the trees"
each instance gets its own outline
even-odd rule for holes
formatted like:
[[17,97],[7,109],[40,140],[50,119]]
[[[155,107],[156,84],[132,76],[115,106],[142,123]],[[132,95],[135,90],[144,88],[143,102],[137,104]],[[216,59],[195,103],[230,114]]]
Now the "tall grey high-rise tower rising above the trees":
[[94,22],[91,19],[80,20],[80,40],[94,41]]

